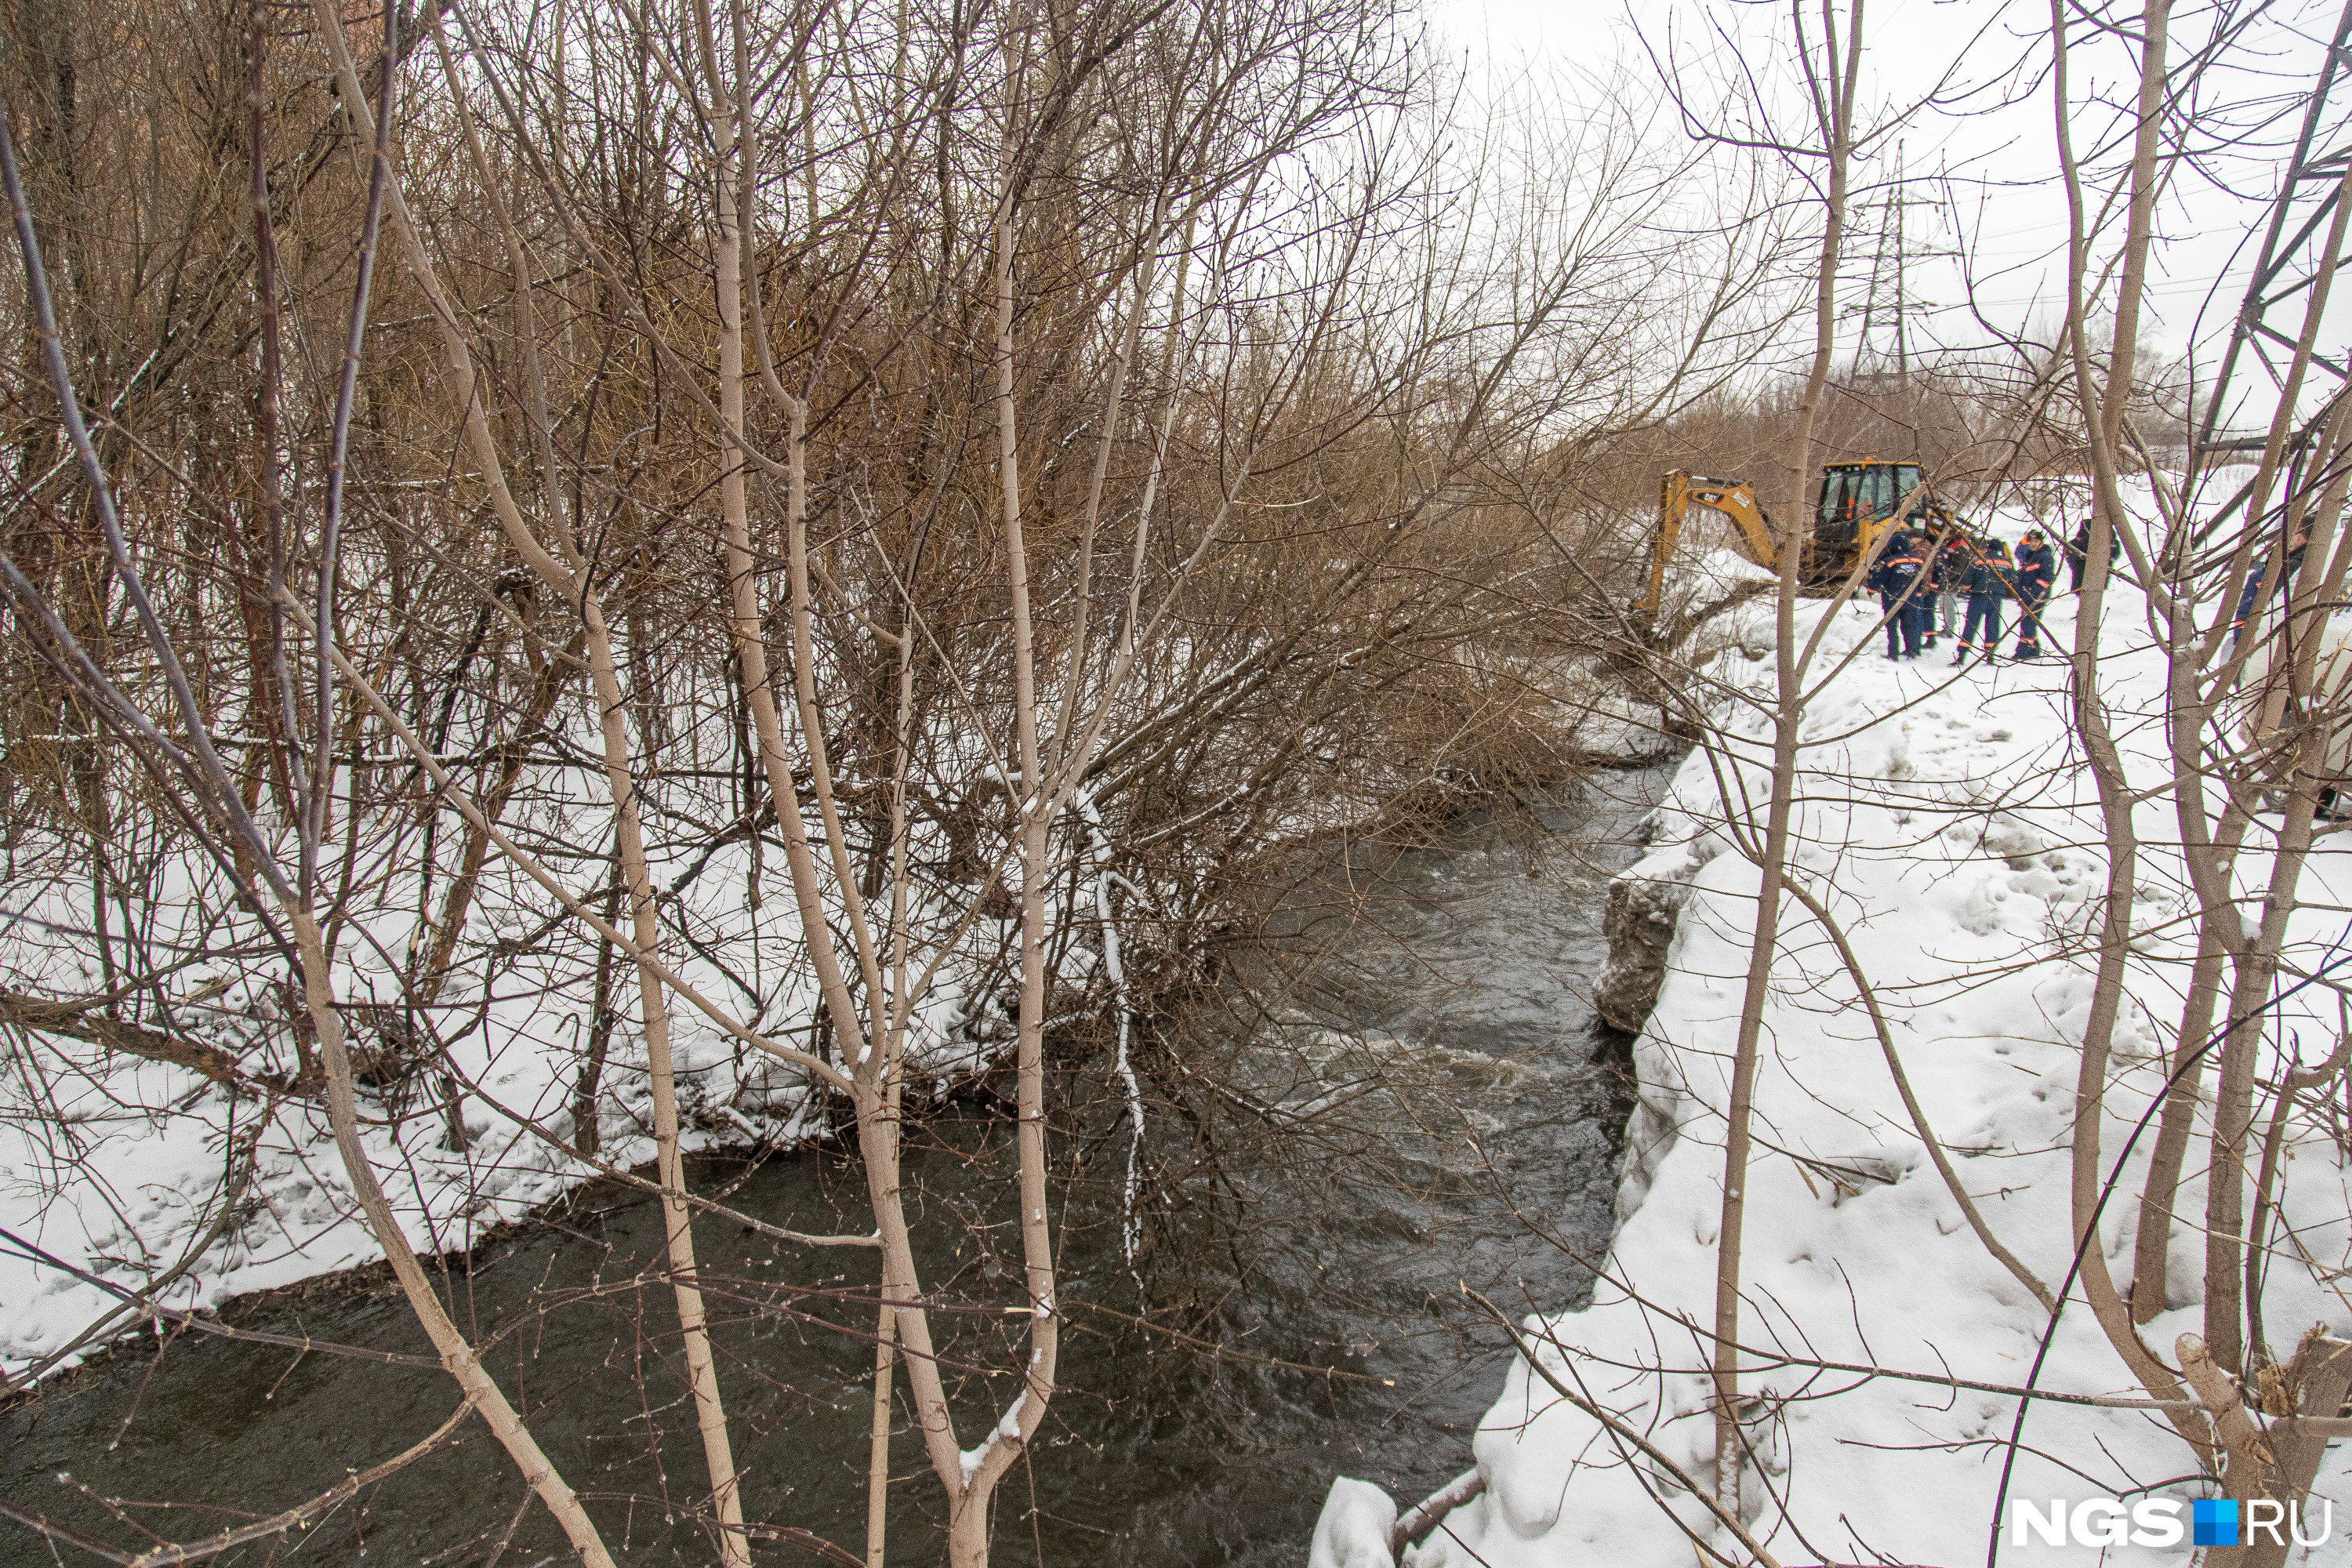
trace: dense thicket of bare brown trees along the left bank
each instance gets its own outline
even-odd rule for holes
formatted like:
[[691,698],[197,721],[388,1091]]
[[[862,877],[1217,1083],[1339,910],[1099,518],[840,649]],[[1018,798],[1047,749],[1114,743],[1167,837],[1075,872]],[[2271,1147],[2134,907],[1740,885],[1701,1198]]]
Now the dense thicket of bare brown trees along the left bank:
[[[1051,1051],[1117,1011],[1134,1262],[1129,1020],[1317,832],[1576,766],[1545,677],[1599,651],[1623,541],[1559,498],[1769,329],[1769,247],[1689,261],[1656,212],[1698,169],[1623,115],[1461,158],[1444,82],[1338,0],[111,16],[111,96],[0,115],[35,129],[42,355],[7,830],[47,922],[0,1016],[24,1063],[193,1072],[136,1093],[240,1135],[186,1258],[45,1354],[179,1312],[256,1150],[332,1140],[468,1408],[607,1561],[426,1274],[602,1175],[659,1204],[630,1288],[668,1302],[708,1554],[786,1528],[729,1420],[722,1215],[875,1253],[835,1324],[875,1340],[866,1556],[910,1408],[985,1561],[1063,1385]],[[174,118],[188,61],[223,68]],[[957,1081],[1011,1110],[981,1220],[906,1175]],[[870,1225],[701,1182],[746,1128],[840,1131]],[[917,1267],[1000,1225],[981,1284]]]

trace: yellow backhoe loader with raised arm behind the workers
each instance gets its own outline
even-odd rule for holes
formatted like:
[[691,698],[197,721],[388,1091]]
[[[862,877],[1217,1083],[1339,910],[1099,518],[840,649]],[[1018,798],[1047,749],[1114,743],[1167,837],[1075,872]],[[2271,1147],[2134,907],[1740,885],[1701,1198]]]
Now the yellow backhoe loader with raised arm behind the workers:
[[[1708,508],[1731,520],[1740,555],[1766,571],[1780,569],[1780,545],[1771,517],[1757,505],[1755,484],[1745,480],[1708,480],[1682,468],[1658,487],[1658,534],[1651,541],[1649,583],[1635,611],[1656,628],[1665,604],[1665,567],[1675,559],[1675,541],[1691,508]],[[1877,548],[1896,520],[1929,531],[1959,527],[1959,520],[1926,494],[1917,463],[1828,463],[1820,470],[1820,501],[1813,529],[1804,538],[1797,581],[1806,592],[1832,592],[1856,562]]]

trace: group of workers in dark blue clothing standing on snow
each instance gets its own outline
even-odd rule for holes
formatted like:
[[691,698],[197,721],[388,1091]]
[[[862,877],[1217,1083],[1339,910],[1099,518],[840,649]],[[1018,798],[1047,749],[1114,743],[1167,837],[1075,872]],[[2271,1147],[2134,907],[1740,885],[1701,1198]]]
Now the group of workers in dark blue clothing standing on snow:
[[[2089,541],[2077,538],[2067,550],[2077,588],[2084,543]],[[2051,602],[2056,578],[2058,552],[2042,529],[2025,529],[2016,555],[2009,552],[2009,541],[1990,534],[1945,534],[1940,541],[1893,534],[1870,571],[1870,588],[1886,611],[1886,658],[1919,658],[1936,646],[1938,625],[1943,637],[1952,637],[1957,625],[1959,649],[1952,663],[1964,665],[1971,654],[1992,663],[2002,651],[2002,607],[2011,599],[2018,604],[2011,656],[2042,658],[2042,609]]]

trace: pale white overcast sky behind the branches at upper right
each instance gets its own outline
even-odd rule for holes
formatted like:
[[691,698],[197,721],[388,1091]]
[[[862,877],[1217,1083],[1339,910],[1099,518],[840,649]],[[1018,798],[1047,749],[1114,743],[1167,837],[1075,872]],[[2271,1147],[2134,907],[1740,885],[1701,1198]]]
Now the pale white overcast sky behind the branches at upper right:
[[[2241,143],[2213,150],[2197,172],[2183,172],[2180,188],[2159,214],[2157,275],[2150,284],[2154,320],[2145,341],[2185,350],[2192,341],[2211,353],[2246,289],[2246,273],[2270,216],[2286,148],[2300,125],[2300,99],[2310,92],[2345,0],[2279,0],[2244,31],[2230,52],[2230,71],[2216,75],[2199,106],[2199,129],[2232,127]],[[1809,0],[1818,16],[1818,0]],[[2136,7],[2119,12],[2136,19]],[[2183,5],[2176,40],[2204,40],[2216,19],[2211,5]],[[1726,5],[1724,0],[1430,0],[1425,16],[1472,80],[1508,82],[1529,73],[1573,82],[1571,92],[1599,92],[1621,80],[1625,94],[1663,96],[1651,52],[1675,56],[1693,75],[1722,73],[1731,49],[1710,31],[1731,31],[1750,68],[1766,80],[1792,85],[1785,54],[1790,9],[1785,5]],[[1907,212],[1907,292],[1924,310],[1931,339],[1969,343],[1980,336],[1959,310],[1973,277],[1980,310],[2016,327],[2049,322],[2065,292],[2065,202],[2056,183],[2053,99],[2049,89],[2049,7],[1987,0],[1872,0],[1865,12],[1863,99],[1886,115],[1915,99],[1929,82],[1957,73],[1976,92],[1964,106],[1926,110],[1903,132],[1903,169],[1915,197],[1938,197],[1938,207]],[[1644,45],[1646,40],[1646,45]],[[2091,153],[2124,129],[2096,99],[2129,89],[2131,52],[2091,38],[2072,59],[2077,103],[2077,150]],[[2352,82],[2331,96],[2331,127],[2352,125]],[[2251,134],[2249,134],[2251,132]],[[2110,143],[2112,146],[2112,143]],[[2340,139],[2338,139],[2340,146]],[[1858,181],[1886,181],[1893,141],[1858,169]],[[1938,169],[1945,181],[1933,183]],[[1849,268],[1849,303],[1858,301],[1867,256],[1877,252],[1877,214],[1858,214],[1856,263]],[[2253,242],[2246,235],[2253,233]],[[1971,252],[1966,273],[1955,261],[1933,261],[1959,244]],[[2216,299],[2218,303],[2209,303]],[[2347,292],[2352,294],[2352,292]],[[2199,320],[2201,315],[2201,320]],[[2343,348],[2352,308],[2328,313],[2321,353]],[[2340,320],[2338,320],[2340,317]],[[2288,334],[2300,317],[2274,324]],[[1860,322],[1849,322],[1851,336]],[[2204,355],[2201,355],[2204,357]]]

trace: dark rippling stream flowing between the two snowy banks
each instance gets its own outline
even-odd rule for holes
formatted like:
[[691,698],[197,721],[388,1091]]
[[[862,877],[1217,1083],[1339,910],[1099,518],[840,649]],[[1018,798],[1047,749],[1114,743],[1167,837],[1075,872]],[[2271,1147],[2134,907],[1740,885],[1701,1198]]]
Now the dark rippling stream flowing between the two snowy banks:
[[[1138,1046],[1152,1180],[1134,1260],[1117,1079],[1098,1063],[1063,1074],[1063,1392],[997,1493],[995,1561],[1298,1566],[1331,1476],[1414,1502],[1468,1467],[1505,1359],[1463,1286],[1515,1314],[1581,1300],[1590,1276],[1571,1251],[1609,1234],[1630,1086],[1588,994],[1606,879],[1637,853],[1663,780],[1609,773],[1463,820],[1435,849],[1334,853],[1218,999]],[[964,1098],[908,1143],[917,1234],[943,1237],[922,1258],[927,1291],[985,1305],[938,1316],[969,1443],[1016,1392],[981,1368],[1021,1361],[1018,1319],[1002,1312],[1018,1260],[1009,1124]],[[837,1154],[708,1159],[694,1180],[739,1182],[729,1201],[774,1225],[861,1227],[863,1175]],[[586,1192],[449,1265],[445,1293],[614,1554],[708,1563],[675,1316],[668,1288],[637,1279],[661,1246],[656,1218],[633,1194]],[[696,1239],[748,1519],[863,1559],[870,1255],[779,1248],[717,1220]],[[226,1316],[426,1349],[381,1276]],[[0,1500],[125,1554],[186,1542],[315,1497],[454,1406],[430,1368],[198,1335],[158,1354],[143,1340],[5,1413]],[[938,1495],[901,1403],[894,1561],[941,1561]],[[807,1552],[767,1540],[755,1561]],[[103,1559],[52,1556],[0,1521],[0,1563],[56,1561]],[[454,1446],[308,1528],[216,1561],[539,1568],[569,1552],[466,1422]]]

